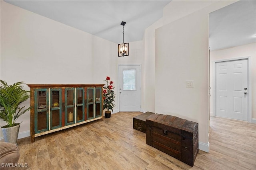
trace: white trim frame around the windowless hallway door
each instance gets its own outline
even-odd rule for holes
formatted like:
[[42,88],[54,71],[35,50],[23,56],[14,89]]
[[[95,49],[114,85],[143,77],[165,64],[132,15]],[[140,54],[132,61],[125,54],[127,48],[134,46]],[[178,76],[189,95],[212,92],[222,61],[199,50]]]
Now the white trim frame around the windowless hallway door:
[[215,116],[215,63],[248,59],[248,122],[252,123],[252,66],[251,57],[239,57],[212,61],[212,109]]

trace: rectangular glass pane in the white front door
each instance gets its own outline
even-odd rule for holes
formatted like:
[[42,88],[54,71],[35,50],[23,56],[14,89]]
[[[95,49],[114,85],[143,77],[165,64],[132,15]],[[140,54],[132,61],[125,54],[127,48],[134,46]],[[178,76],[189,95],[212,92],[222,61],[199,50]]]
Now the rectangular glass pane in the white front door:
[[136,70],[124,69],[123,70],[123,90],[136,90]]

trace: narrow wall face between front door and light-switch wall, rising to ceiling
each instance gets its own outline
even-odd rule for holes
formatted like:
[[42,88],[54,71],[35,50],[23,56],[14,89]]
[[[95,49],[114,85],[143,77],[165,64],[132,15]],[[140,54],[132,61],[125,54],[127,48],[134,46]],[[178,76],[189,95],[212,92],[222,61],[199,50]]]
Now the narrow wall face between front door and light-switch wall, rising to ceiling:
[[[174,0],[164,7],[163,17],[150,25],[144,32],[144,87],[143,111],[155,112],[155,30],[163,25],[178,20],[217,1],[202,0]],[[235,1],[233,1],[235,2]],[[233,2],[225,2],[225,5]],[[223,2],[222,2],[223,3]],[[218,6],[218,4],[217,4]],[[168,47],[167,47],[168,49]]]

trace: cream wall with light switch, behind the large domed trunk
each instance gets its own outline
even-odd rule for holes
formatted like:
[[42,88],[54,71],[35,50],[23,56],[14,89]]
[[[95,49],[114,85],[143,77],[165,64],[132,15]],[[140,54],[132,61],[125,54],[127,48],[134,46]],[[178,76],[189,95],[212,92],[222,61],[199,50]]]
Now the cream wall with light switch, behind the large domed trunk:
[[[184,10],[183,2],[172,2],[168,6]],[[199,149],[206,152],[209,151],[208,15],[232,3],[214,2],[156,30],[155,112],[198,122]],[[186,80],[194,80],[194,88],[186,88]]]

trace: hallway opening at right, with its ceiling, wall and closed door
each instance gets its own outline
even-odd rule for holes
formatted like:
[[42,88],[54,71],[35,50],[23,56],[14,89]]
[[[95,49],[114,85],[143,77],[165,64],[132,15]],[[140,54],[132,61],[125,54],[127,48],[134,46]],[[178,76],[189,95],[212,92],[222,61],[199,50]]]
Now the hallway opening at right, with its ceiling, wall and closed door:
[[[256,33],[255,5],[255,1],[238,1],[209,14],[210,116],[222,116],[256,123],[255,114],[252,112],[254,110],[252,101],[255,100],[255,94],[252,93],[255,91],[255,87],[252,86],[255,84],[253,70],[255,70],[256,41],[255,37],[252,38],[252,35]],[[226,67],[230,67],[228,63],[232,63],[234,60],[245,61],[248,64],[247,75],[244,75],[247,77],[245,80],[247,84],[240,84],[239,80],[242,77],[239,78],[239,76],[242,73],[235,71],[242,69],[240,68],[241,65],[233,64],[230,68],[233,69],[232,74],[225,72]],[[222,83],[220,79],[223,79]],[[228,85],[230,79],[235,84]],[[232,90],[229,92],[225,90],[226,86],[233,86],[233,92],[230,92]],[[238,90],[238,86],[240,90]],[[233,95],[229,97],[232,99],[228,100],[225,92],[233,94],[239,92],[240,96]],[[244,101],[247,103],[240,105]],[[243,111],[245,107],[247,111]],[[239,116],[244,114],[246,117],[232,117],[230,113],[226,113],[228,108],[229,110],[232,109],[233,113],[235,112]],[[220,114],[218,111],[222,113]],[[229,116],[225,114],[229,114]]]

